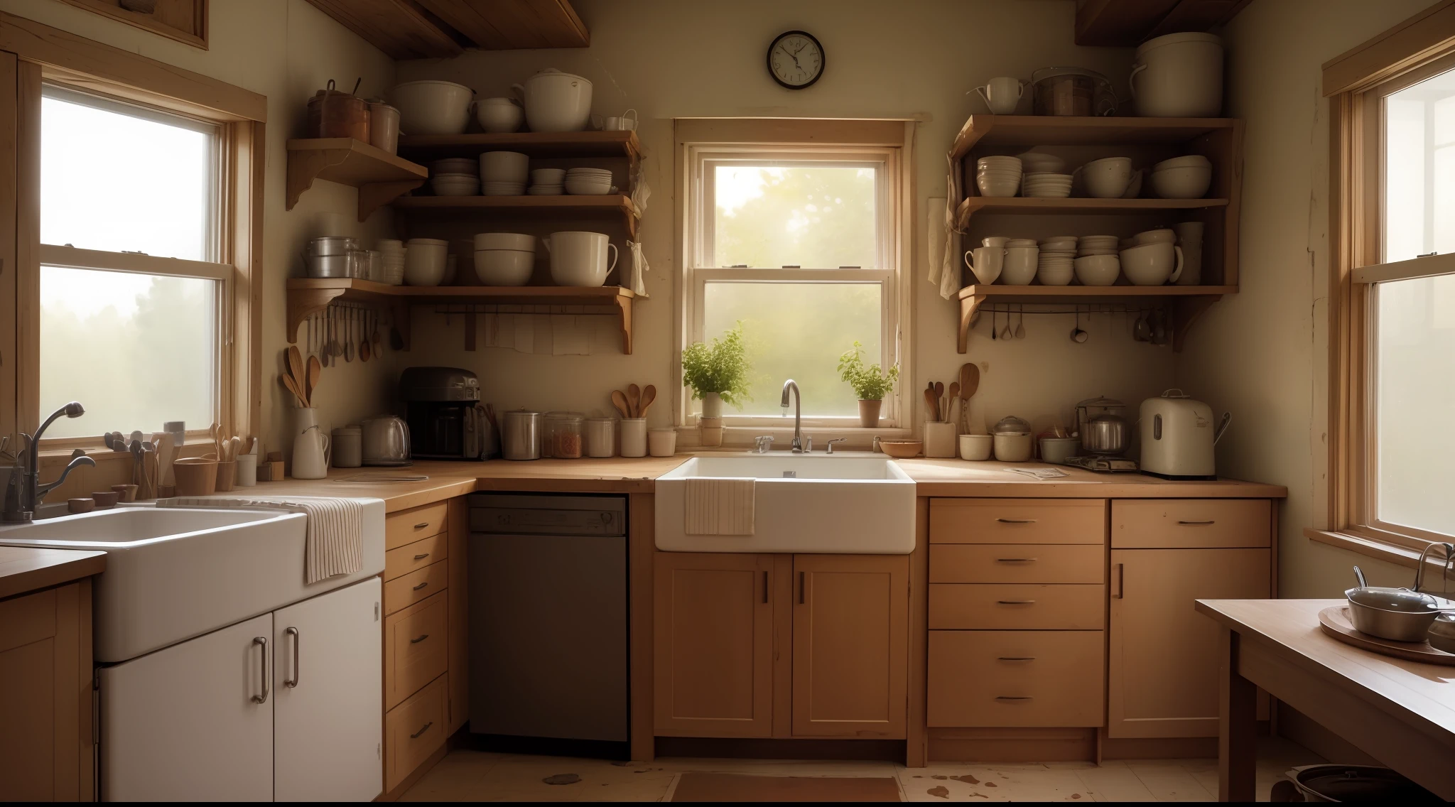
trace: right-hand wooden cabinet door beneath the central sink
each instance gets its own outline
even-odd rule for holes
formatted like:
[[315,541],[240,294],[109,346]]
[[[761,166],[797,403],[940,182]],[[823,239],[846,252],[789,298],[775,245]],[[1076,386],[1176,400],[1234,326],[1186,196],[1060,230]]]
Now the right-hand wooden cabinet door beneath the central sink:
[[905,736],[908,555],[793,555],[793,734]]

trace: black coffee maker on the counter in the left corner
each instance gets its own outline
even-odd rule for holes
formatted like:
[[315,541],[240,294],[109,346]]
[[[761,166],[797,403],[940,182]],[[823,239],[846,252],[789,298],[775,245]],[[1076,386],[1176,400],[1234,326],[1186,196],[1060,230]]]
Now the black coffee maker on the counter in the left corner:
[[489,459],[499,452],[480,406],[480,380],[453,366],[412,366],[399,377],[415,459]]

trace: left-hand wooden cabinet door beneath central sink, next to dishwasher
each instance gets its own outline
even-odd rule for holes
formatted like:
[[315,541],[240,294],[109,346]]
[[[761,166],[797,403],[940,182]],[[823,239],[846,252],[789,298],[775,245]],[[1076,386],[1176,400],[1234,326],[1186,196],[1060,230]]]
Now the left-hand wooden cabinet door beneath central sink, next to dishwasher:
[[658,553],[656,733],[773,731],[773,555]]

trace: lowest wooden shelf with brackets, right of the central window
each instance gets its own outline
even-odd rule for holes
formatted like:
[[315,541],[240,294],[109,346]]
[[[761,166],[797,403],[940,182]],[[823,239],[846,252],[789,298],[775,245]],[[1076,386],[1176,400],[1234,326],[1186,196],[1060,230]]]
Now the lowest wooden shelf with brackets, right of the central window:
[[1080,302],[1110,301],[1170,302],[1173,308],[1173,350],[1180,352],[1187,329],[1225,294],[1237,294],[1238,286],[997,286],[973,285],[959,292],[960,329],[959,352],[965,353],[970,340],[970,320],[985,302]]

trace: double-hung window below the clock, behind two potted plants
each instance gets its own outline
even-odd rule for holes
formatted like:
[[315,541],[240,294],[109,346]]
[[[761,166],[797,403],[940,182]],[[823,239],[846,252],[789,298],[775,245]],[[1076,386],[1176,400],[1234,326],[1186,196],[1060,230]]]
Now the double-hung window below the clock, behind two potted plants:
[[[739,323],[751,400],[728,426],[783,426],[780,390],[802,394],[806,426],[858,425],[838,358],[904,362],[906,291],[904,121],[678,121],[685,173],[682,340]],[[684,391],[679,416],[698,401]],[[899,423],[898,390],[882,423]]]

